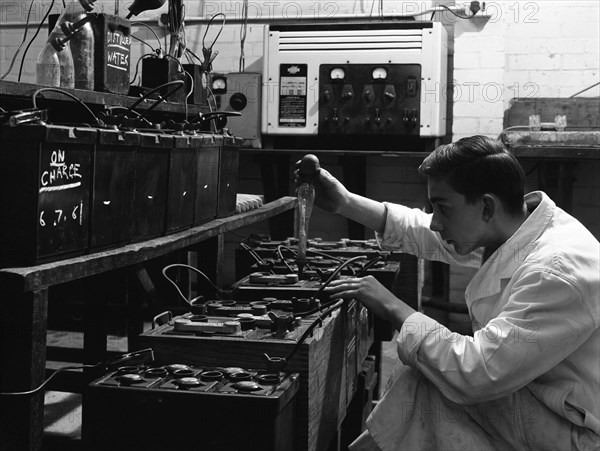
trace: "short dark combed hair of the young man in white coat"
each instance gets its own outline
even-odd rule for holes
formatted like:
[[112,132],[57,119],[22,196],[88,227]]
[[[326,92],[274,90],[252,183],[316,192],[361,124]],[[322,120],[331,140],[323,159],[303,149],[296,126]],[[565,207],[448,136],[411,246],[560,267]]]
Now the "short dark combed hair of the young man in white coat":
[[491,193],[502,200],[509,214],[522,211],[525,173],[497,139],[476,135],[439,146],[425,158],[419,172],[446,181],[469,203]]

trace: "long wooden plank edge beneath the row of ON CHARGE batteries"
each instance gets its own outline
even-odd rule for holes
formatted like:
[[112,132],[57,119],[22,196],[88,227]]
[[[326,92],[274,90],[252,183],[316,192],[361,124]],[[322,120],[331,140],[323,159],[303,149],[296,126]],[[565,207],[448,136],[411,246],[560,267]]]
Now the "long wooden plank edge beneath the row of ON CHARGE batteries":
[[229,232],[291,210],[295,197],[282,197],[255,210],[239,213],[182,232],[104,252],[31,267],[0,269],[0,284],[13,292],[30,292],[70,280],[131,266],[175,252],[207,238]]

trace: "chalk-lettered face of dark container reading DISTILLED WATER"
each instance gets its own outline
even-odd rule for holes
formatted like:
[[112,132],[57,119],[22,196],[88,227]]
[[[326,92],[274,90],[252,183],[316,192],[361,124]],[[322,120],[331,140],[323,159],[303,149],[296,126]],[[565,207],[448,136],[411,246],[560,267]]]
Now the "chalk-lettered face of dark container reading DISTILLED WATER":
[[94,22],[95,89],[115,94],[129,92],[131,25],[112,14],[98,14]]

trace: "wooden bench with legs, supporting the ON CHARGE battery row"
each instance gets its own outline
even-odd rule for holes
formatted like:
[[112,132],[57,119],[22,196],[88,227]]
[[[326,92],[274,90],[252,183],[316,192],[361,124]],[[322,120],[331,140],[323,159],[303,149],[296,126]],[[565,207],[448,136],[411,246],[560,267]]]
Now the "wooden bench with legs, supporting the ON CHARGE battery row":
[[[295,198],[282,197],[255,210],[141,243],[38,266],[0,269],[0,303],[3,309],[0,319],[0,391],[27,391],[38,387],[44,380],[50,287],[130,270],[150,259],[188,249],[204,240],[222,237],[225,232],[266,220],[293,209],[295,204]],[[93,293],[90,297],[94,298]],[[102,332],[101,327],[95,331],[92,327],[89,334],[86,330],[84,354],[93,355],[88,356],[89,361],[94,361],[106,351],[106,336],[102,337]],[[2,449],[40,450],[44,392],[25,397],[2,397],[0,403]]]

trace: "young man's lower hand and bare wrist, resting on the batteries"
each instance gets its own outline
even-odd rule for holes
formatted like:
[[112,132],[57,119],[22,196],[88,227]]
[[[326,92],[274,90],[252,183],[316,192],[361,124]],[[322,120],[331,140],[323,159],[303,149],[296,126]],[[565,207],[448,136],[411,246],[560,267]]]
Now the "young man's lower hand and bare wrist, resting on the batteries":
[[337,279],[324,290],[331,299],[357,299],[374,315],[389,321],[397,330],[410,315],[416,312],[406,305],[375,277]]

